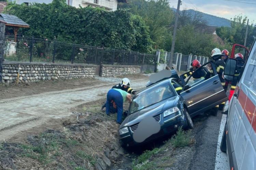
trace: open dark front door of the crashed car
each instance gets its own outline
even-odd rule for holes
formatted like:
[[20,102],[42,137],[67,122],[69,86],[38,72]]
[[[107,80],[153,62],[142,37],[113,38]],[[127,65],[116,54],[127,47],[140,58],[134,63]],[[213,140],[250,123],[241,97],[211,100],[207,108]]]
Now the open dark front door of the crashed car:
[[[204,66],[212,68],[212,73],[209,72],[204,79],[193,82],[193,74]],[[228,100],[214,64],[208,62],[200,68],[188,77],[185,86],[189,85],[190,88],[183,90],[180,94],[185,100],[189,114],[192,117]]]

